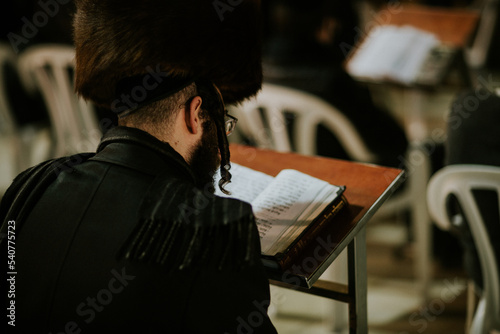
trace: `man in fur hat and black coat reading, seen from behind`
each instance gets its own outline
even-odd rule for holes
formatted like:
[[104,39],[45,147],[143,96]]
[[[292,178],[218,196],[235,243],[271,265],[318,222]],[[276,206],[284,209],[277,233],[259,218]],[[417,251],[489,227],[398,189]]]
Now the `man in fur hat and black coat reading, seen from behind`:
[[76,2],[76,90],[119,126],[5,194],[10,331],[276,332],[251,207],[213,195],[224,100],[261,83],[258,1],[218,3]]

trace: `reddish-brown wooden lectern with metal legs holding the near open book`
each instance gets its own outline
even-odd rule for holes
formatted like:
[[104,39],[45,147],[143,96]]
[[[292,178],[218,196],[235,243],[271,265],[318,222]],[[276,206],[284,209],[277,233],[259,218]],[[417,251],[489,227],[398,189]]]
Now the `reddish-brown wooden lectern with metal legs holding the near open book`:
[[[271,284],[348,303],[350,333],[367,333],[366,223],[403,182],[403,171],[234,144],[231,161],[273,176],[282,169],[293,168],[346,186],[344,194],[349,206],[289,269],[269,270],[268,274]],[[348,284],[318,280],[346,247]]]

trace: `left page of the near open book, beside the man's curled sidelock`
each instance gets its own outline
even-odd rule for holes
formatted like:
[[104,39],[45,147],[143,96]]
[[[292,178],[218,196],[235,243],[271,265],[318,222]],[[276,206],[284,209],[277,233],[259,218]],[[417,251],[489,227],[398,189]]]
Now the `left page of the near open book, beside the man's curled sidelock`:
[[214,176],[215,194],[222,197],[236,198],[244,202],[251,203],[271,181],[274,179],[271,175],[244,167],[242,165],[231,163],[231,183],[225,189],[230,191],[230,195],[224,194],[219,189],[220,170]]

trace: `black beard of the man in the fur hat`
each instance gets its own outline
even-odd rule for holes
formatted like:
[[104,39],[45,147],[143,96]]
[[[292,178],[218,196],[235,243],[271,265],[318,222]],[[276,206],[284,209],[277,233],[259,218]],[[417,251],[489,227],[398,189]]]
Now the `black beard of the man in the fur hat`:
[[201,140],[193,149],[189,166],[196,178],[196,187],[215,192],[214,175],[220,165],[215,124],[205,121]]

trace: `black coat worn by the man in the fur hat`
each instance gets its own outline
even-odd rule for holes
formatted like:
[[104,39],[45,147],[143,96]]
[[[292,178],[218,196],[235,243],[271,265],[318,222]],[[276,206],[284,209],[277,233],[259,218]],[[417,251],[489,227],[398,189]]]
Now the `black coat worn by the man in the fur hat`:
[[168,144],[117,127],[51,168],[33,204],[7,213],[21,175],[0,211],[19,332],[275,333],[250,205],[195,188]]

